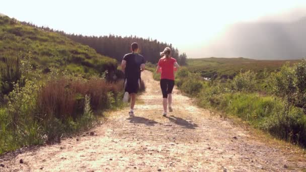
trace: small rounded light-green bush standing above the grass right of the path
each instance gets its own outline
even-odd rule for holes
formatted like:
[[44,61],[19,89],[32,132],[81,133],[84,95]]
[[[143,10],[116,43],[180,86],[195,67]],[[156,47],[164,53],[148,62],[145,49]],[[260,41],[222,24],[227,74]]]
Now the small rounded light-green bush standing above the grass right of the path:
[[252,92],[255,86],[255,76],[253,71],[241,72],[233,80],[234,88],[240,92]]

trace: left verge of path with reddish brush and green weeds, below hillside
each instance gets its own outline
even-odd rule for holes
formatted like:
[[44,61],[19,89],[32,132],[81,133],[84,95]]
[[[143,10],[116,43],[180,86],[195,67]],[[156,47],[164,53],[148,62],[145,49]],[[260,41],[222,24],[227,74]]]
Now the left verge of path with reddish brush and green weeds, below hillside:
[[51,72],[18,83],[0,108],[0,154],[26,145],[60,142],[94,127],[103,112],[123,106],[123,83]]

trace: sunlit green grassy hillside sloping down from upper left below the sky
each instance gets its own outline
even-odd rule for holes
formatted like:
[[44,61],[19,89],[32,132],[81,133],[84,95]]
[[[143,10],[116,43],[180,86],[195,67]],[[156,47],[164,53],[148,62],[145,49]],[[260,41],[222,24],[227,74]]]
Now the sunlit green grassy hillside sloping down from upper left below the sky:
[[116,66],[116,60],[98,54],[89,46],[58,33],[22,25],[6,16],[0,17],[0,57],[25,57],[29,52],[32,66],[40,66],[44,72],[56,67],[71,72],[95,73]]

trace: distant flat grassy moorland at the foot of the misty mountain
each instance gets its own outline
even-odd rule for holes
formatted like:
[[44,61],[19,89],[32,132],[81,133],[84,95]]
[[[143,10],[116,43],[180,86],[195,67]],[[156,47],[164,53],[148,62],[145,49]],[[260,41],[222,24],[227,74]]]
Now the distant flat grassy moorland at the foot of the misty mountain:
[[[290,60],[290,64],[298,60]],[[285,60],[254,60],[248,58],[198,58],[187,59],[187,68],[191,72],[199,72],[203,77],[233,78],[240,70],[255,72],[274,71],[285,64]]]

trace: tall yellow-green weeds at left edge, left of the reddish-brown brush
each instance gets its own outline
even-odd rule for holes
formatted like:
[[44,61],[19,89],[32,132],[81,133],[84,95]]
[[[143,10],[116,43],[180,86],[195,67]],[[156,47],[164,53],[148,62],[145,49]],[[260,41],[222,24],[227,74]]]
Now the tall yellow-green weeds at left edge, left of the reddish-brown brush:
[[32,81],[27,81],[23,88],[18,83],[15,84],[14,91],[9,95],[7,119],[0,119],[0,123],[5,126],[0,130],[0,135],[7,138],[4,143],[0,142],[2,151],[43,143],[43,128],[35,116],[39,89],[40,86]]

